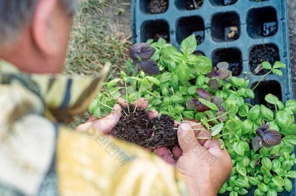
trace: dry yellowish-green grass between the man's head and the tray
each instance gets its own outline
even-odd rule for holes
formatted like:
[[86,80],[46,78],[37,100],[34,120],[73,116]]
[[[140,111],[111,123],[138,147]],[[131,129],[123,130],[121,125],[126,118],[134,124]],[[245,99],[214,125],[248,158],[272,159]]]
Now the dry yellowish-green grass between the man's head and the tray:
[[[105,62],[112,67],[107,79],[125,69],[130,38],[129,0],[80,0],[74,17],[64,74],[95,75]],[[70,127],[85,122],[87,113],[76,116]]]

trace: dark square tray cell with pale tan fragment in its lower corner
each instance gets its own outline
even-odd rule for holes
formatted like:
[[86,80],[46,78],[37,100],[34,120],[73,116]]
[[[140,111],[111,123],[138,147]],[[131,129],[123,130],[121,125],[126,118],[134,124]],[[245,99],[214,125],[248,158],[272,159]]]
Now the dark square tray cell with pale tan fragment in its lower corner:
[[240,18],[234,12],[214,15],[212,37],[215,42],[231,42],[240,37]]

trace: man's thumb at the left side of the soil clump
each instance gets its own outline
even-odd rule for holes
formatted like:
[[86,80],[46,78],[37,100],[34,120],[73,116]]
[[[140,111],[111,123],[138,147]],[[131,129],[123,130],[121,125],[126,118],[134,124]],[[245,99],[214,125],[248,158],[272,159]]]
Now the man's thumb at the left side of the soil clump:
[[121,111],[122,108],[118,104],[115,104],[113,111],[105,118],[92,121],[94,128],[100,132],[103,132],[104,134],[109,134],[120,120]]

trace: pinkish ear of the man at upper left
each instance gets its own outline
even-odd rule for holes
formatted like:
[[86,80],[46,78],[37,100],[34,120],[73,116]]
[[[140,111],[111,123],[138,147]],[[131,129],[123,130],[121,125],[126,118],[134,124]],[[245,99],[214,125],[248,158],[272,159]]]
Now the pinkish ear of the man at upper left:
[[32,21],[33,42],[41,53],[52,55],[58,50],[53,13],[57,0],[38,0]]

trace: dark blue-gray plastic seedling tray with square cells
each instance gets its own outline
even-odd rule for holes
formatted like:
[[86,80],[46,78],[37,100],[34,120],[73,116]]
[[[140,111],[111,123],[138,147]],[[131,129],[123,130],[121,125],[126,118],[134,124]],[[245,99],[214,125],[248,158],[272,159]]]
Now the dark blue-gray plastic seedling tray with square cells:
[[[132,0],[133,43],[162,37],[179,48],[193,33],[196,53],[207,56],[214,65],[229,62],[232,75],[254,73],[261,60],[271,64],[280,60],[287,65],[283,76],[271,74],[264,79],[254,91],[252,104],[266,105],[268,93],[284,103],[293,99],[286,0]],[[249,75],[250,87],[263,74]],[[296,196],[295,180],[292,182],[293,191],[278,196]]]

